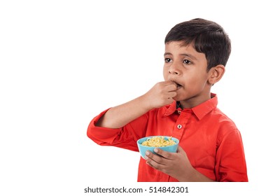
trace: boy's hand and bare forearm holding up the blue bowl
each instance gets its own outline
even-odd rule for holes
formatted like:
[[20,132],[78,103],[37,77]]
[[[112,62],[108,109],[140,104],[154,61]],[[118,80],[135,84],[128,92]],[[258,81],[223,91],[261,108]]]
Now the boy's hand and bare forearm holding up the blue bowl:
[[177,153],[169,153],[155,148],[155,155],[150,151],[146,152],[146,163],[160,172],[172,176],[178,181],[193,181],[195,169],[190,164],[186,152],[179,146]]

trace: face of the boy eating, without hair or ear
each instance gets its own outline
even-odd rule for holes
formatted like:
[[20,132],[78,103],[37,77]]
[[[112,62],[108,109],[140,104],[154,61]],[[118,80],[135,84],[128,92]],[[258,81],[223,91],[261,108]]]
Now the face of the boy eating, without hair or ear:
[[210,98],[210,71],[207,71],[204,53],[197,52],[192,44],[181,46],[181,43],[166,43],[163,73],[166,81],[172,80],[177,85],[177,95],[173,99],[191,108]]

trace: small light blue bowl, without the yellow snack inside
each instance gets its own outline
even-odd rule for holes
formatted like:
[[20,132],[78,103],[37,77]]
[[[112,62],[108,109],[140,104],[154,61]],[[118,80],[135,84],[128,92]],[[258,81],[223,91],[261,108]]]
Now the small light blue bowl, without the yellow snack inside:
[[[177,148],[179,148],[179,139],[176,139],[174,137],[172,137],[172,140],[176,144],[174,144],[172,146],[163,146],[163,147],[143,146],[142,142],[146,141],[148,138],[151,138],[151,137],[155,137],[155,136],[144,137],[144,138],[141,138],[141,139],[139,139],[137,141],[137,146],[139,147],[139,153],[140,153],[140,155],[141,155],[142,158],[144,158],[146,151],[151,151],[152,153],[156,154],[155,151],[154,151],[155,148],[160,148],[162,151],[167,151],[169,153],[176,153]],[[157,137],[162,137],[162,136],[157,136]],[[163,136],[163,137],[165,137],[164,138],[165,140],[169,139],[168,136]]]

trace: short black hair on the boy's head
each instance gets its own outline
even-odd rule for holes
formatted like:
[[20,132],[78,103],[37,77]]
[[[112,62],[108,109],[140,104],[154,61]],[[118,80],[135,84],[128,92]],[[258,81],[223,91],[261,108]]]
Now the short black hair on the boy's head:
[[218,64],[225,66],[231,52],[230,38],[223,27],[216,22],[195,18],[175,25],[167,34],[165,44],[172,41],[182,41],[182,45],[193,43],[197,52],[206,55],[208,67]]

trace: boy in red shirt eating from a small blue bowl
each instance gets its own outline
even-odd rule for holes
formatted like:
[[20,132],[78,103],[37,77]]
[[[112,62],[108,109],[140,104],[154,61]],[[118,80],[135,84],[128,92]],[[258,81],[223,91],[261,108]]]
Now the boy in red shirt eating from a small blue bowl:
[[100,113],[87,136],[132,151],[142,137],[179,139],[177,153],[146,152],[138,181],[248,181],[240,132],[211,93],[230,52],[230,39],[215,22],[197,18],[174,26],[165,38],[165,81]]

